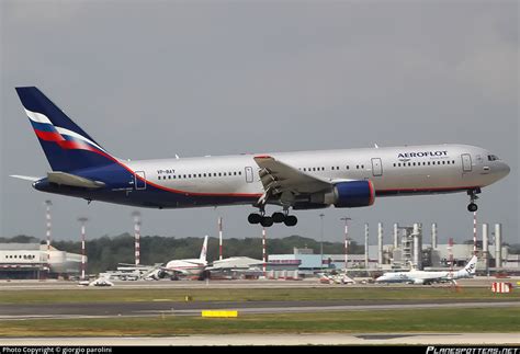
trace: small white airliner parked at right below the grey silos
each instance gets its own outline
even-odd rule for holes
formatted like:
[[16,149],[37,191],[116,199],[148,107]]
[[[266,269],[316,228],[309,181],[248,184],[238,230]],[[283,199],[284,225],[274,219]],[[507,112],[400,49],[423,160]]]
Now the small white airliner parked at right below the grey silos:
[[455,282],[456,279],[473,277],[475,275],[477,256],[473,255],[463,270],[457,272],[442,271],[428,272],[411,270],[409,272],[385,273],[375,279],[377,283],[410,283],[431,284],[439,282]]

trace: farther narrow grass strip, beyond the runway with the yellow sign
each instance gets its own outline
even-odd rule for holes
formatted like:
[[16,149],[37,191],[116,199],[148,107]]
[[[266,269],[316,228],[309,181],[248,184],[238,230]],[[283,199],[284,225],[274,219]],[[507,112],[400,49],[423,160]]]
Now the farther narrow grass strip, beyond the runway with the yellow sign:
[[366,287],[366,288],[259,288],[259,289],[117,289],[3,290],[0,304],[127,302],[127,301],[274,301],[274,300],[396,300],[396,299],[496,299],[519,300],[520,292],[494,294],[488,288],[464,287]]

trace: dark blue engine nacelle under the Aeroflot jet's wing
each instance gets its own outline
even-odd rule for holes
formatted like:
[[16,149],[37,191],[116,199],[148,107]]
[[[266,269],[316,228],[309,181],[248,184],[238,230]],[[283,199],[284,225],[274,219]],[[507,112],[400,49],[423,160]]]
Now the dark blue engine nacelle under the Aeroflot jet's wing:
[[338,208],[354,208],[374,204],[375,190],[371,181],[351,181],[335,184],[334,204]]

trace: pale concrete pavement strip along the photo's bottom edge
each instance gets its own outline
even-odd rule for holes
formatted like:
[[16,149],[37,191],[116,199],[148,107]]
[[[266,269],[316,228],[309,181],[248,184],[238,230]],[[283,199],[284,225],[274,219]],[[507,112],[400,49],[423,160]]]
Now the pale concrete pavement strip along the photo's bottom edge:
[[[182,336],[3,338],[0,345],[467,345],[520,344],[518,333],[197,334]],[[512,352],[517,353],[515,349]]]

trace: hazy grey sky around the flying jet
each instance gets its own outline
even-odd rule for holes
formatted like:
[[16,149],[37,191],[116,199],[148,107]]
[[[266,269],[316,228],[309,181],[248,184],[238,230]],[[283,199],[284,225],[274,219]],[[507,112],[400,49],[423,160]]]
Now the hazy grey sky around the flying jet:
[[[106,150],[147,159],[422,145],[489,149],[511,173],[484,189],[479,222],[519,239],[517,1],[0,1],[0,230],[79,240],[132,232],[135,208],[44,194],[10,174],[49,165],[14,87],[36,85]],[[473,238],[464,193],[297,212],[291,235],[376,241],[383,222]],[[143,235],[261,237],[250,206],[140,209]],[[274,208],[269,209],[274,212]]]

